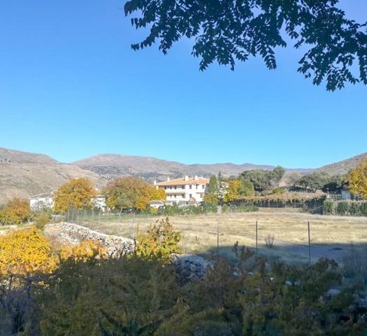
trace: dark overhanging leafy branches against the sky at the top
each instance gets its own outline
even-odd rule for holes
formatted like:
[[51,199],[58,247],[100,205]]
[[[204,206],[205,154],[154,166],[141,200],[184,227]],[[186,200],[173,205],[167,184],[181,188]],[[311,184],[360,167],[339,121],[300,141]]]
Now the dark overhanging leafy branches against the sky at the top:
[[260,55],[275,69],[275,48],[305,49],[298,72],[314,85],[341,89],[345,83],[367,85],[367,22],[346,17],[338,0],[129,0],[131,24],[149,33],[134,50],[158,42],[166,54],[180,38],[192,38],[200,70],[217,62],[229,65]]

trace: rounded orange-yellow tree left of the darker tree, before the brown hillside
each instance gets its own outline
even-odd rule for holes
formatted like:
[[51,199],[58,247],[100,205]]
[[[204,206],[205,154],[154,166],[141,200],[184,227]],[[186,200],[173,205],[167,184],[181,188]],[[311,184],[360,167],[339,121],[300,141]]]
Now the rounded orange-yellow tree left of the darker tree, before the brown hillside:
[[55,211],[66,211],[69,207],[82,209],[92,207],[91,199],[96,197],[96,189],[88,179],[72,179],[56,191]]

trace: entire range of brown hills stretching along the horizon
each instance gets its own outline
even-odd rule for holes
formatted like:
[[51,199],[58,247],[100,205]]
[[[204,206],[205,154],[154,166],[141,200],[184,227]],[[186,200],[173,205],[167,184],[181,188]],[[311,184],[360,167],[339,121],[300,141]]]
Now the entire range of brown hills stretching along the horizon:
[[[329,174],[346,174],[367,153],[354,158],[326,165],[318,169],[287,169],[287,174],[304,174],[314,170]],[[217,163],[213,165],[185,165],[180,162],[131,155],[101,154],[72,163],[62,163],[47,155],[0,148],[0,204],[13,197],[29,197],[55,190],[62,183],[75,177],[90,179],[97,188],[119,176],[131,175],[152,182],[168,176],[210,176],[221,172],[224,176],[238,175],[250,169],[273,169],[271,165],[245,163]]]

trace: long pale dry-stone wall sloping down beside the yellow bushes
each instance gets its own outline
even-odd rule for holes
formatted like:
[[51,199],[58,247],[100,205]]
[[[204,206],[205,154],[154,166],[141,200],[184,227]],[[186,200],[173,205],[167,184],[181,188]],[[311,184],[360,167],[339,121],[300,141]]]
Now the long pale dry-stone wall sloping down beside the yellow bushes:
[[134,240],[119,236],[105,235],[72,223],[55,223],[45,226],[45,234],[54,237],[61,244],[79,244],[84,240],[96,240],[106,247],[108,255],[116,256],[134,251]]

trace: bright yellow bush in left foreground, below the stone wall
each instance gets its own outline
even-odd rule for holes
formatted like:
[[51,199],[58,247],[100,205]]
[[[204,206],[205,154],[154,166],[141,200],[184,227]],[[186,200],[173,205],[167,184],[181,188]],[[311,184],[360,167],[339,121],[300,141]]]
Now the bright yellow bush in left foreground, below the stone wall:
[[48,239],[36,228],[0,236],[0,276],[50,273],[58,262]]

